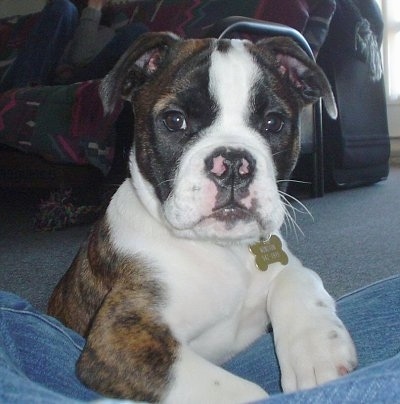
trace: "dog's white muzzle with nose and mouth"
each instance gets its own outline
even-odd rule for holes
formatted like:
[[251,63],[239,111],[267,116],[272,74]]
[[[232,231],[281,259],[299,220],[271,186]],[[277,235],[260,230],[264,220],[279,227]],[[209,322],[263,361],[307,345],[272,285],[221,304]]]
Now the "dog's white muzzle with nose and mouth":
[[267,237],[284,216],[269,150],[251,136],[240,144],[223,139],[228,145],[212,146],[210,139],[181,160],[163,205],[168,224],[191,238],[247,243]]

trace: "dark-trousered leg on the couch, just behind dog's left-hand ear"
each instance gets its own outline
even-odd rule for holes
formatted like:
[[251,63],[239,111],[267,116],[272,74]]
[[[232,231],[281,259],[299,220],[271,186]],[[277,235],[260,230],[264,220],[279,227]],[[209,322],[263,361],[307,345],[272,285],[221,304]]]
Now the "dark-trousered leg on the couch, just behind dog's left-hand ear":
[[103,78],[133,42],[147,31],[147,27],[140,23],[132,23],[120,28],[114,38],[89,64],[74,73],[73,81]]

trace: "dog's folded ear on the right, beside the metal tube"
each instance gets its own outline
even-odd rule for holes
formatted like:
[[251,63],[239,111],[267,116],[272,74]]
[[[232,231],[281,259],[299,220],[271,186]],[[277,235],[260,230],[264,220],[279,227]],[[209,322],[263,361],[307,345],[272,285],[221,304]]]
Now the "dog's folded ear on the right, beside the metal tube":
[[271,37],[260,40],[257,45],[272,52],[278,72],[288,77],[304,104],[322,97],[326,112],[333,119],[337,118],[335,98],[325,73],[295,41],[288,37]]

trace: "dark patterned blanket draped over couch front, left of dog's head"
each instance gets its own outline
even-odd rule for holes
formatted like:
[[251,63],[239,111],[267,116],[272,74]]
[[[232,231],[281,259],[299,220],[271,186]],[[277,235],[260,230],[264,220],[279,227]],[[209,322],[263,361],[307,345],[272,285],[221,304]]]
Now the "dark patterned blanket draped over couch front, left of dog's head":
[[107,173],[114,122],[104,116],[96,81],[10,90],[0,97],[0,142],[48,161],[92,164]]

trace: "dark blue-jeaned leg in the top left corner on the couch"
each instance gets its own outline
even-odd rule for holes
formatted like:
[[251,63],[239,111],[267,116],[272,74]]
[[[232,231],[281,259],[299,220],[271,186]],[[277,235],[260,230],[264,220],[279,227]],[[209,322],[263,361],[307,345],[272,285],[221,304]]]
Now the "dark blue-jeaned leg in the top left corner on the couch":
[[51,84],[52,74],[78,24],[78,10],[68,0],[47,3],[29,38],[0,84],[0,91]]

